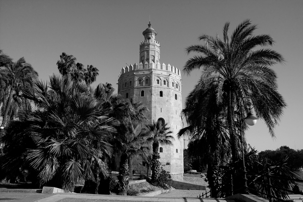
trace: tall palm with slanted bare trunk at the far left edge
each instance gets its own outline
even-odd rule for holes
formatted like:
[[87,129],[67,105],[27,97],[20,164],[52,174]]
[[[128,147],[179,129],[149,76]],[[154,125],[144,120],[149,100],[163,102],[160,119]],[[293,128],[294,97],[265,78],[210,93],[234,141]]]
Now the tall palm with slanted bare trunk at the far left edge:
[[[5,66],[2,66],[0,68],[0,75],[4,86],[3,89],[8,93],[5,96],[5,92],[1,92],[4,93],[2,94],[1,110],[1,116],[3,116],[1,126],[4,127],[8,116],[11,115],[9,114],[9,111],[12,110],[11,107],[14,93],[16,93],[15,98],[18,99],[17,95],[26,91],[31,91],[35,79],[38,78],[38,73],[22,57],[16,62],[9,62],[6,63]],[[13,107],[16,108],[17,106],[13,105]]]

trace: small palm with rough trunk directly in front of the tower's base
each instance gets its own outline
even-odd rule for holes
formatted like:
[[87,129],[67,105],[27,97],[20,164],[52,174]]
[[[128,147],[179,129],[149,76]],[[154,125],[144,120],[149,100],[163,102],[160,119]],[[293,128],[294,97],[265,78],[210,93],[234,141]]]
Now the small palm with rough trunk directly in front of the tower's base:
[[170,131],[170,127],[167,126],[168,123],[162,124],[161,121],[155,122],[153,120],[153,123],[145,125],[146,128],[143,130],[146,130],[149,134],[149,137],[147,139],[148,142],[152,143],[152,165],[151,165],[151,181],[156,182],[158,180],[158,177],[160,175],[160,162],[158,159],[160,159],[159,154],[159,145],[173,145],[173,142],[171,140],[175,140],[175,138],[169,134],[172,133]]

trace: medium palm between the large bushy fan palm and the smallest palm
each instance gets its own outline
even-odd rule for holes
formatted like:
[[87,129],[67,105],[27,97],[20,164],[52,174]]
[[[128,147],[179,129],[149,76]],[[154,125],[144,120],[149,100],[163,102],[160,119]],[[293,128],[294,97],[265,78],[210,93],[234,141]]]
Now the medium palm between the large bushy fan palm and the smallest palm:
[[[145,155],[149,150],[147,145],[148,133],[145,130],[141,130],[137,133],[139,128],[139,122],[131,124],[122,124],[119,126],[118,134],[119,141],[122,143],[122,148],[119,151],[121,154],[120,170],[118,176],[118,195],[127,195],[128,179],[129,179],[129,159],[136,156]],[[141,125],[141,124],[140,124]]]

